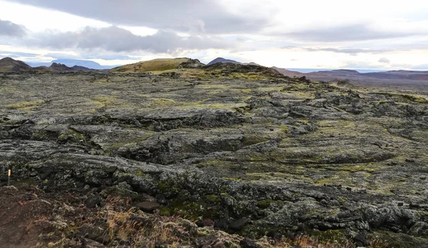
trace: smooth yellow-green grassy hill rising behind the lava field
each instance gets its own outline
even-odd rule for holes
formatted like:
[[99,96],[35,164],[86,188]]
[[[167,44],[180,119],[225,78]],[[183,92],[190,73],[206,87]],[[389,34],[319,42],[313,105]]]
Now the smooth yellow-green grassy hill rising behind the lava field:
[[141,61],[111,69],[119,73],[145,73],[149,71],[168,71],[177,68],[180,63],[188,62],[190,58],[156,58],[151,61]]

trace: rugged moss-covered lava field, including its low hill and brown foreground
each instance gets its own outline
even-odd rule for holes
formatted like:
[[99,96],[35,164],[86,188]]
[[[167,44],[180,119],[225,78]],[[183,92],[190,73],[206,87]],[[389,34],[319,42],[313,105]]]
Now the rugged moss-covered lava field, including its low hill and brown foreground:
[[428,244],[421,91],[177,58],[0,73],[0,106],[2,244]]

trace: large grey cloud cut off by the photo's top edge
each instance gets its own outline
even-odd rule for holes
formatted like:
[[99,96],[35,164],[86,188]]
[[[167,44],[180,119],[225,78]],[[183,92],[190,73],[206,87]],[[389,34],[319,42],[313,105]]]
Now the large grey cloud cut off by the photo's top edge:
[[[115,25],[148,26],[153,29],[206,33],[258,31],[269,16],[236,16],[218,1],[152,0],[16,0],[21,4],[64,11]],[[82,7],[84,6],[84,7]]]

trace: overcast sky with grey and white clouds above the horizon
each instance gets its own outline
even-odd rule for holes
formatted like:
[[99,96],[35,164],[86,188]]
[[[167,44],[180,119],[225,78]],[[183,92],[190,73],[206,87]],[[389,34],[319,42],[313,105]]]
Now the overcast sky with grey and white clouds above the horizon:
[[428,71],[428,1],[0,0],[0,58]]

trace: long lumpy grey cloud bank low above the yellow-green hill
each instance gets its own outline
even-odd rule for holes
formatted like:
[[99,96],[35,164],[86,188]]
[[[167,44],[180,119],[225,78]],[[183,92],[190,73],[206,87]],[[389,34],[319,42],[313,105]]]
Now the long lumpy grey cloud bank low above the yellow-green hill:
[[65,49],[78,48],[86,51],[111,51],[115,53],[150,51],[176,53],[183,50],[226,48],[230,43],[211,36],[181,37],[170,31],[158,31],[152,36],[138,36],[126,29],[86,27],[78,32],[57,33],[46,31],[24,41],[28,46]]

